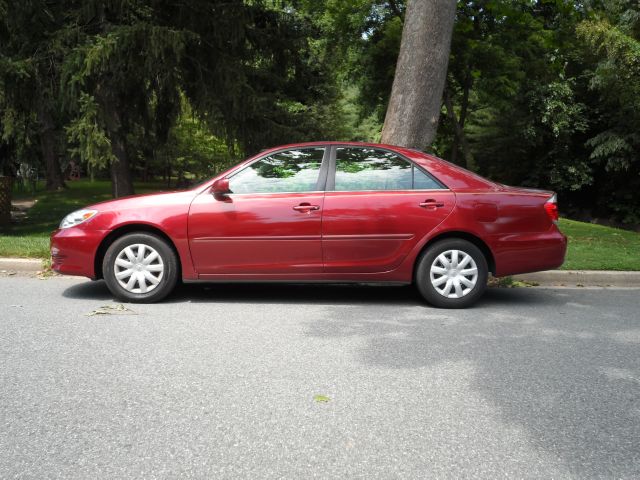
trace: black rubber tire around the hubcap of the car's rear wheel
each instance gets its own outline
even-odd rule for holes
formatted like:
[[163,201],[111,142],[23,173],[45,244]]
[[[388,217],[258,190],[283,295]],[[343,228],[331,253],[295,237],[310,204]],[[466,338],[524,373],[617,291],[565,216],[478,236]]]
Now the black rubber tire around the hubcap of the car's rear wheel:
[[[436,286],[434,286],[431,281],[431,267],[434,265],[436,259],[441,254],[452,250],[458,250],[469,255],[473,259],[473,262],[475,262],[477,268],[477,279],[475,281],[475,285],[473,287],[468,287],[466,285],[462,286],[463,294],[459,298],[448,298],[444,296],[436,289]],[[437,264],[436,267],[439,265],[440,264]],[[420,255],[416,262],[415,280],[420,294],[434,307],[467,308],[478,301],[484,293],[487,288],[488,275],[489,268],[487,266],[487,259],[478,247],[473,243],[460,238],[448,238],[434,243]],[[445,285],[442,288],[443,290],[446,290],[447,274],[434,274],[435,281],[440,278],[444,278]],[[465,279],[470,281],[472,280],[472,277],[465,276]],[[453,288],[453,286],[451,288]],[[456,292],[451,294],[455,295]]]

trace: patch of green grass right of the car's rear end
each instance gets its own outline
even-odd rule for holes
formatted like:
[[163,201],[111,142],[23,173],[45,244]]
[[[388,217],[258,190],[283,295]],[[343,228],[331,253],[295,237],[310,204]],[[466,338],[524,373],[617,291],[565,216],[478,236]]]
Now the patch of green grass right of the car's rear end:
[[569,237],[563,270],[640,270],[640,233],[560,220]]

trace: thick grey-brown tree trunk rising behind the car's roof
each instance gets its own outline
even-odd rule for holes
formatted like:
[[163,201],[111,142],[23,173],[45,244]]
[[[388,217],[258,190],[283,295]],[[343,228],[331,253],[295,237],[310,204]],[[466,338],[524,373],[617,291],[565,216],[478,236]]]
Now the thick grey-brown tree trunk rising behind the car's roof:
[[409,0],[382,142],[425,150],[435,138],[456,0]]

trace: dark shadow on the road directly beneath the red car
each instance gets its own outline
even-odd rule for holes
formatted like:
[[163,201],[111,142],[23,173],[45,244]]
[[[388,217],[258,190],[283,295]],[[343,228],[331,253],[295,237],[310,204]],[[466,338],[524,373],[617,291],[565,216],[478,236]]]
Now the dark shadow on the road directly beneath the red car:
[[[75,284],[63,292],[71,299],[109,300],[104,281]],[[526,289],[489,288],[476,308],[548,301]],[[163,303],[265,303],[320,305],[404,305],[430,307],[411,285],[192,283],[178,285]]]

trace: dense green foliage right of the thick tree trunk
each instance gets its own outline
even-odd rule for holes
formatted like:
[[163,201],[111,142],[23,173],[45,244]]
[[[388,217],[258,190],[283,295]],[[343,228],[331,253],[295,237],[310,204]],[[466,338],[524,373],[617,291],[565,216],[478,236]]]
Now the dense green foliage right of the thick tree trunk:
[[[596,7],[459,4],[447,89],[480,173],[557,190],[566,212],[633,224],[639,8],[625,1]],[[438,153],[456,161],[462,140],[448,116]]]

